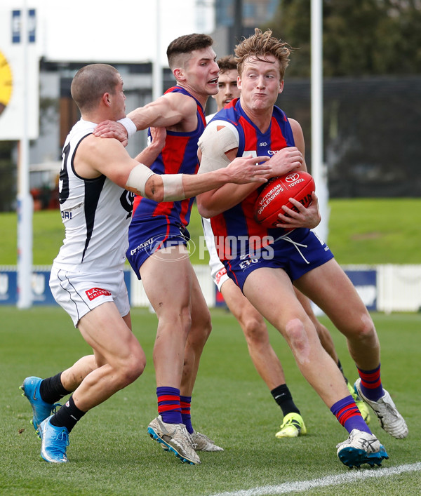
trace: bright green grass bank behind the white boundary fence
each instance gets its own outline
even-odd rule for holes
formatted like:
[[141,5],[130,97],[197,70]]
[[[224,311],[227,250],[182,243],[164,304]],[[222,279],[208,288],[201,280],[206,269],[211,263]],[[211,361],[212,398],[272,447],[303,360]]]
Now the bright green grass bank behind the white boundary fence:
[[[340,264],[420,264],[421,199],[334,199],[329,202],[328,244]],[[0,265],[16,264],[15,213],[0,214]],[[34,265],[51,265],[62,244],[58,210],[34,213]],[[196,206],[189,232],[202,234]],[[192,255],[193,264],[207,263]]]

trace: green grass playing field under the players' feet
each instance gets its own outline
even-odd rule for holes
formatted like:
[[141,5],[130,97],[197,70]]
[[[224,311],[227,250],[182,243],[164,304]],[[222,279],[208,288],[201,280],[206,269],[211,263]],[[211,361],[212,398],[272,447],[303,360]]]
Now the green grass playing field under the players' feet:
[[[345,429],[298,373],[281,336],[270,329],[309,431],[300,438],[275,438],[281,410],[255,372],[238,324],[222,309],[213,310],[212,316],[213,332],[201,360],[192,419],[197,430],[225,447],[224,453],[203,453],[201,465],[192,467],[163,453],[147,435],[147,424],[156,415],[152,365],[156,317],[146,309],[133,309],[133,329],[147,355],[145,373],[83,417],[71,434],[69,463],[51,465],[39,457],[40,441],[29,424],[32,412],[18,386],[27,375],[58,373],[88,354],[89,348],[58,307],[20,311],[0,307],[0,493],[412,496],[420,492],[421,314],[373,314],[382,343],[382,378],[406,417],[410,434],[396,440],[373,420],[370,427],[390,458],[381,469],[358,471],[350,471],[336,457],[335,445],[347,437]],[[345,373],[354,380],[345,339],[326,319],[321,320],[332,330]],[[410,466],[409,471],[393,474],[392,469],[404,465]],[[315,486],[306,485],[316,479]],[[267,486],[275,487],[265,490]]]

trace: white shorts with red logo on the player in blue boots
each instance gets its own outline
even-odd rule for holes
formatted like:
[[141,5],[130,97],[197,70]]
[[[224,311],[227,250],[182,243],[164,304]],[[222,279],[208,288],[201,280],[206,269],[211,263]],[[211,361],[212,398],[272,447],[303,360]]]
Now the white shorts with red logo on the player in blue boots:
[[83,315],[105,302],[114,302],[122,317],[130,312],[122,270],[83,274],[58,269],[53,265],[50,289],[55,301],[72,318],[74,327],[77,327]]

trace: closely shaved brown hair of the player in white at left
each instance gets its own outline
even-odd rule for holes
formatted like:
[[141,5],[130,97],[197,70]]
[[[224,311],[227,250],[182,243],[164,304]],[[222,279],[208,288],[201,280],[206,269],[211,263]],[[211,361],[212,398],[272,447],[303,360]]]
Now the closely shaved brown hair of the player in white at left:
[[108,64],[90,64],[76,72],[70,92],[81,112],[94,109],[104,93],[114,94],[119,83],[117,74],[117,69]]

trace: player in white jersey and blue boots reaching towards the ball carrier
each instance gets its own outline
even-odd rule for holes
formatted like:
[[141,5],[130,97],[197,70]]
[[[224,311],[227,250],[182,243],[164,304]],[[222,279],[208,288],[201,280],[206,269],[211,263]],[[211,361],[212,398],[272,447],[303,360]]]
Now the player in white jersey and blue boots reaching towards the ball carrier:
[[[131,384],[145,368],[145,354],[131,332],[123,280],[131,192],[173,201],[227,181],[265,182],[263,176],[271,169],[264,163],[256,167],[256,159],[241,159],[227,168],[226,175],[218,171],[208,177],[156,175],[144,163],[150,165],[161,151],[165,131],[156,130],[151,147],[137,159],[131,159],[118,140],[93,135],[95,126],[107,119],[131,125],[125,117],[123,81],[114,67],[92,64],[80,69],[72,81],[72,98],[81,120],[69,133],[62,154],[60,211],[65,241],[53,262],[50,286],[93,355],[58,375],[45,380],[27,377],[22,384],[42,440],[41,457],[53,463],[67,462],[69,432],[76,422]],[[55,411],[55,402],[72,391],[67,403]]]

